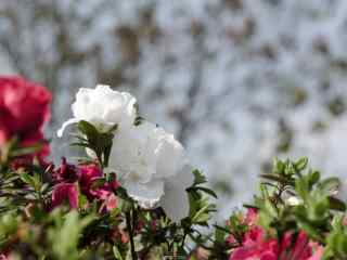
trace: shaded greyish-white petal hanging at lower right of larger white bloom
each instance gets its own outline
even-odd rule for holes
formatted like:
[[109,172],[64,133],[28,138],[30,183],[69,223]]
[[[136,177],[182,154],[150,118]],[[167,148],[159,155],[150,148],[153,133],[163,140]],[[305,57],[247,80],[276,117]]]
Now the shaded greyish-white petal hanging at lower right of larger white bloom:
[[189,198],[185,188],[191,186],[193,181],[192,167],[188,165],[177,176],[165,181],[164,196],[159,205],[175,222],[189,216]]

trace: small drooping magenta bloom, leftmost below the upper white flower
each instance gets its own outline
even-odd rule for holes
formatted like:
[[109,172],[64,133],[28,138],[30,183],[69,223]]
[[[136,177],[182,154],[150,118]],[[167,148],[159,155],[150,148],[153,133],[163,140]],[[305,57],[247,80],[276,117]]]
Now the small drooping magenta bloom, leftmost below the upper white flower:
[[54,186],[51,207],[61,206],[64,202],[68,202],[73,209],[78,208],[78,191],[74,183],[61,183]]

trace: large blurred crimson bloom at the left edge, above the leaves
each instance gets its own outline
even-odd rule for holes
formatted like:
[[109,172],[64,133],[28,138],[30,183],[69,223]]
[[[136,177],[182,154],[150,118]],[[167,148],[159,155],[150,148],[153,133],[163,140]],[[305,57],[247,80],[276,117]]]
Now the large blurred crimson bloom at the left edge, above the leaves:
[[[22,146],[43,142],[42,128],[50,118],[51,93],[21,77],[0,77],[0,146],[17,136]],[[49,154],[49,146],[40,156]]]

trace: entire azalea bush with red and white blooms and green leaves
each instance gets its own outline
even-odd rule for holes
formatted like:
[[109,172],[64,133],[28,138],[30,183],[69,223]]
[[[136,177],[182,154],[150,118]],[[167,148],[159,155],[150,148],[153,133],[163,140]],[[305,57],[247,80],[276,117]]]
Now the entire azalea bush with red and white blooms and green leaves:
[[57,135],[82,155],[59,165],[42,132],[51,100],[0,78],[0,259],[347,259],[339,180],[307,158],[275,159],[253,203],[215,223],[206,178],[131,94],[80,89]]

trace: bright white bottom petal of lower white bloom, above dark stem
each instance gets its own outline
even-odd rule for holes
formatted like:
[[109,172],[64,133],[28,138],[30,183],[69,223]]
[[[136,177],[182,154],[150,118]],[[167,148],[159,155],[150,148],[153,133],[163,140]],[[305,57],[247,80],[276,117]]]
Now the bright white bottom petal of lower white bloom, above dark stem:
[[154,180],[145,184],[126,181],[124,187],[130,197],[137,200],[143,208],[153,208],[164,194],[164,182]]

